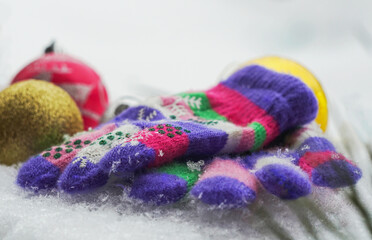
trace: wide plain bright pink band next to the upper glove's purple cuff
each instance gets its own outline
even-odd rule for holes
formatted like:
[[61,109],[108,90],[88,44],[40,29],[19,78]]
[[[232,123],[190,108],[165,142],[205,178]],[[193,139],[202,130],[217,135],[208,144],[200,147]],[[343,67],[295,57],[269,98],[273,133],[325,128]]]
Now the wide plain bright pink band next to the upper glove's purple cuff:
[[218,84],[206,91],[206,95],[212,109],[232,123],[247,126],[249,123],[259,122],[266,130],[264,145],[279,135],[279,125],[276,120],[238,91]]

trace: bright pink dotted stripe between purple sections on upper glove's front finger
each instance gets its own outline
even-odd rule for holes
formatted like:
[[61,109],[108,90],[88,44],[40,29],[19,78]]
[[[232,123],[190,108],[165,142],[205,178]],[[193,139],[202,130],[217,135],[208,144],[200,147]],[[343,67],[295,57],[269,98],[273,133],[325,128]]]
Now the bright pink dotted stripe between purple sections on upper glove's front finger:
[[[189,146],[189,138],[185,132],[174,127],[167,127],[165,124],[160,125],[163,128],[159,129],[159,125],[153,127],[156,131],[149,131],[147,128],[131,138],[155,150],[155,160],[149,164],[149,167],[156,167],[171,162],[185,154]],[[172,130],[168,131],[168,129]],[[159,130],[163,130],[166,133],[161,134]],[[182,132],[182,134],[179,135],[176,131]],[[167,134],[173,134],[173,137],[169,137]]]

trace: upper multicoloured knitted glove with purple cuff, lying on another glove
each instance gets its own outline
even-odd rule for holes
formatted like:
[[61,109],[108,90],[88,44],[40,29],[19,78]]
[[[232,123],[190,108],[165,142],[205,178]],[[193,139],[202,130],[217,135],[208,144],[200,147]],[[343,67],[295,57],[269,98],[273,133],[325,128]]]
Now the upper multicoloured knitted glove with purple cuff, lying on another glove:
[[181,156],[255,150],[316,113],[315,98],[302,82],[259,66],[246,67],[206,92],[180,96],[157,98],[158,104],[151,101],[156,108],[126,110],[107,124],[107,129],[120,129],[84,137],[96,139],[89,146],[73,139],[74,151],[66,143],[31,158],[20,170],[18,183],[53,187],[69,164],[60,187],[68,192],[92,189],[105,184],[112,172],[134,172]]

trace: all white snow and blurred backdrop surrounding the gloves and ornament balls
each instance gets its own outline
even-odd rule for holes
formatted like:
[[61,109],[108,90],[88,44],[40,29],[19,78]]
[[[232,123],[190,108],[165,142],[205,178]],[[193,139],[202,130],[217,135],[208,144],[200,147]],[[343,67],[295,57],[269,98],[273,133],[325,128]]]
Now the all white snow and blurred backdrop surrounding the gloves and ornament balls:
[[231,64],[289,57],[323,84],[329,135],[364,171],[355,189],[297,201],[261,191],[249,209],[222,211],[141,206],[120,184],[34,195],[14,184],[16,167],[0,166],[0,239],[370,239],[371,12],[369,0],[0,0],[0,89],[53,39],[97,69],[111,100],[203,89]]

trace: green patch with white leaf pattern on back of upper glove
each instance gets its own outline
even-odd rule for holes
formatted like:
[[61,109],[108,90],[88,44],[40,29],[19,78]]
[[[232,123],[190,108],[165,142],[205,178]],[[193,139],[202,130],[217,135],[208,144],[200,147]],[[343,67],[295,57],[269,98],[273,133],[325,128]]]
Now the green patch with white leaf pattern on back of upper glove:
[[222,120],[227,121],[226,117],[214,111],[209,103],[208,97],[203,92],[196,93],[181,93],[179,94],[187,103],[195,116],[206,120]]

